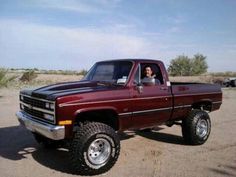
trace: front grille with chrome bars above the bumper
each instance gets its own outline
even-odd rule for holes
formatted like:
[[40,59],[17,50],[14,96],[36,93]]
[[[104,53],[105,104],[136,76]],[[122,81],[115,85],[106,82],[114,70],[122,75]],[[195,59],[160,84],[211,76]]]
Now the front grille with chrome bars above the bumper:
[[[52,101],[34,98],[22,94],[20,95],[21,110],[32,116],[34,119],[55,124],[55,108],[46,108],[46,104],[55,105],[55,103]],[[46,119],[45,114],[50,115],[53,120]]]

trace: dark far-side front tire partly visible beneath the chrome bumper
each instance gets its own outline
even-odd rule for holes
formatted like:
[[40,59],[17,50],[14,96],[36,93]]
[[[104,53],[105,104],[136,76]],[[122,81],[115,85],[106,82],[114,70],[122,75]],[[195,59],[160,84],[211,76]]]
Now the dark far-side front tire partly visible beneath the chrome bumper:
[[34,135],[34,138],[35,140],[43,145],[44,148],[47,148],[47,149],[56,149],[56,148],[59,148],[61,147],[62,145],[62,142],[61,141],[55,141],[55,140],[51,140],[49,138],[46,138],[40,134],[37,134],[37,133],[33,133]]

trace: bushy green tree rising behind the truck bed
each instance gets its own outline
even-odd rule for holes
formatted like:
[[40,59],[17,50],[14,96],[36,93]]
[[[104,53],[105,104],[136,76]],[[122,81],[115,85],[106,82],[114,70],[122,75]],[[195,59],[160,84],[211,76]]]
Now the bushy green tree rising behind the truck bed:
[[193,58],[185,55],[172,59],[168,72],[171,76],[193,76],[207,72],[206,56],[196,54]]

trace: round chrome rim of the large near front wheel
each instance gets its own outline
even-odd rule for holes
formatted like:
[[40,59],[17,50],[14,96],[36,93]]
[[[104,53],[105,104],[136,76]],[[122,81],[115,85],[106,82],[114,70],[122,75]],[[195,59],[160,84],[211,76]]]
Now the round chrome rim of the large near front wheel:
[[103,165],[110,157],[111,145],[104,139],[94,140],[88,148],[88,160],[94,165]]

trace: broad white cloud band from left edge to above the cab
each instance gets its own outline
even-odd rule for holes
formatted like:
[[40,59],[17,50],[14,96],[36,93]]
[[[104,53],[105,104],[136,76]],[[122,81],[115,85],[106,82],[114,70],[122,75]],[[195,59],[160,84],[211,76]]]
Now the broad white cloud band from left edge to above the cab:
[[110,58],[154,56],[152,43],[131,34],[0,21],[1,63],[43,68],[83,68]]

